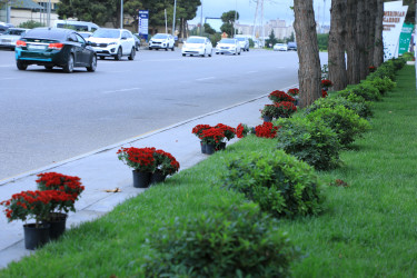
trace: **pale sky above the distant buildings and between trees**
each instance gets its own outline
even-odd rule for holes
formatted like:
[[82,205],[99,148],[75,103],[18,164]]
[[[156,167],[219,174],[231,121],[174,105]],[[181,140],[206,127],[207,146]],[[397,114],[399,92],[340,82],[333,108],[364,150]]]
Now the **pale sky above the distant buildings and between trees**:
[[[202,23],[205,18],[220,18],[221,13],[236,10],[239,12],[239,23],[254,24],[256,0],[201,0],[202,3]],[[331,0],[314,0],[316,19],[319,17],[320,23],[329,24],[330,21],[330,3]],[[287,24],[294,22],[294,11],[290,7],[294,4],[292,0],[264,0],[264,22],[274,19],[285,19]],[[260,11],[258,12],[258,23],[260,24]],[[190,21],[190,24],[200,23],[201,6],[198,8],[197,17]],[[212,28],[219,30],[221,26],[220,20],[207,19]]]

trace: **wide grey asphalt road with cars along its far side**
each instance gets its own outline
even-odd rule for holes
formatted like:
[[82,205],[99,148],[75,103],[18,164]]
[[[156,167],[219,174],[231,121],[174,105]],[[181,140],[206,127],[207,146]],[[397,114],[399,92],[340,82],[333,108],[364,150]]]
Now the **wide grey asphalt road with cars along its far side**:
[[0,180],[292,86],[297,70],[296,52],[177,49],[99,60],[96,72],[19,71],[1,50]]

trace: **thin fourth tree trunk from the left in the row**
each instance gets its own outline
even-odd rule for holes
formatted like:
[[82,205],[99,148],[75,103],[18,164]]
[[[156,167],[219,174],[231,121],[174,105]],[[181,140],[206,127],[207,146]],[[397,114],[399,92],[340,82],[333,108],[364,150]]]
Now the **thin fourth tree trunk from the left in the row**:
[[[369,0],[367,0],[369,1]],[[356,21],[356,34],[357,46],[359,50],[359,80],[364,80],[368,75],[368,62],[367,62],[367,42],[368,42],[368,27],[367,27],[367,11],[365,0],[358,0],[357,6],[357,21]]]

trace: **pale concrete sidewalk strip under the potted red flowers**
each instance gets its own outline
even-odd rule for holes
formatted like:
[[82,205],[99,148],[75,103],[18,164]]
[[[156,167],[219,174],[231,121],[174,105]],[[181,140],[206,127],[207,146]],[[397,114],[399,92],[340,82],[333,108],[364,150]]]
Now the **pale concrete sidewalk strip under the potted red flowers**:
[[[287,90],[289,88],[284,88]],[[81,178],[86,190],[76,202],[77,212],[69,214],[67,228],[75,227],[113,209],[123,200],[146,191],[132,187],[131,169],[121,162],[116,152],[120,147],[155,147],[172,153],[180,163],[180,170],[190,168],[207,156],[200,151],[198,138],[191,133],[195,126],[200,123],[217,125],[219,122],[237,127],[240,122],[248,126],[261,125],[259,109],[270,103],[267,95],[257,99],[238,103],[226,109],[214,111],[177,125],[156,130],[127,141],[108,146],[83,156],[59,163],[50,165],[36,171],[0,181],[0,201],[10,199],[13,193],[23,190],[36,190],[37,173],[56,171]],[[236,141],[236,139],[234,139]],[[230,142],[229,142],[230,143]],[[107,189],[121,189],[121,192],[109,193]],[[3,207],[1,207],[1,210]],[[8,224],[6,215],[0,214],[0,268],[10,261],[19,260],[33,251],[24,249],[23,227],[21,221]]]

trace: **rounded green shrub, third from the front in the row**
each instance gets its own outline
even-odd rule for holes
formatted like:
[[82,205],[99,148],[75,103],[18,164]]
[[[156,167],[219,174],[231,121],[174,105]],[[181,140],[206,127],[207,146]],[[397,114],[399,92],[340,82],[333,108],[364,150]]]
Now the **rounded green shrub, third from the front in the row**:
[[340,143],[334,130],[320,121],[295,117],[276,121],[278,148],[297,157],[317,170],[339,165]]

